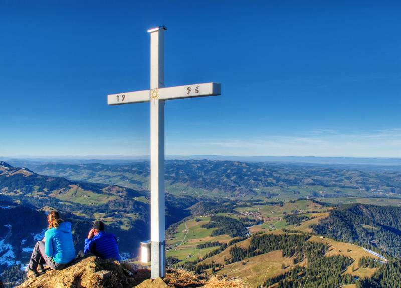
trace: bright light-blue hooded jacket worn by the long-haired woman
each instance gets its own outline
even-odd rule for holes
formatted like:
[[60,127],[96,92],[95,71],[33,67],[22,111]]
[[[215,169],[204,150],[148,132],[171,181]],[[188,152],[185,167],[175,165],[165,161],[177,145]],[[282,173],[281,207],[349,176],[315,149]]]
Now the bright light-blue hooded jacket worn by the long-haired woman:
[[45,233],[45,253],[59,264],[70,263],[75,258],[71,223],[62,222],[58,228],[50,228]]

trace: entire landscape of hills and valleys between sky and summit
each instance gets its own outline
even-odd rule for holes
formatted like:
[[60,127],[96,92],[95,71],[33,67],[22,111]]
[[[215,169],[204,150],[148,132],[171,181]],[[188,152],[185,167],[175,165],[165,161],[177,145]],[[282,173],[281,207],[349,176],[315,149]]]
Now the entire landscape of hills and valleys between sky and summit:
[[[149,238],[148,177],[147,162],[2,162],[1,269],[27,262],[51,209],[73,223],[76,247],[102,219],[123,258],[138,263],[139,242]],[[167,161],[167,264],[250,287],[380,287],[401,258],[400,179],[396,169]],[[15,215],[37,224],[18,229],[24,217]]]

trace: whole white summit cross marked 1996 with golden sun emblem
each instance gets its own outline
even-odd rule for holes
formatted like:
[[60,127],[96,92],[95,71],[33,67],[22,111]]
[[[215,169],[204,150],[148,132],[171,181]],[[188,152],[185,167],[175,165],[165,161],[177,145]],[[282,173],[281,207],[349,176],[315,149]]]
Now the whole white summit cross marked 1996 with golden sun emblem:
[[107,104],[150,102],[150,222],[152,279],[165,276],[164,101],[221,94],[221,84],[164,88],[165,26],[150,33],[150,90],[107,95]]

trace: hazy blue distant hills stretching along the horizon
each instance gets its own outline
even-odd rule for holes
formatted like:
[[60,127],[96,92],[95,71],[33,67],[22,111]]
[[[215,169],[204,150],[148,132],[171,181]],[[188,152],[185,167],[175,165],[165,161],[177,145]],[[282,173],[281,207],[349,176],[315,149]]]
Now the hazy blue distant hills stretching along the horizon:
[[[36,162],[24,162],[24,164],[41,174],[148,189],[150,168],[147,161],[130,164]],[[299,185],[401,194],[401,174],[391,169],[372,170],[317,164],[228,160],[167,160],[165,174],[167,191],[171,186],[180,185],[207,191],[216,190],[216,196],[219,196],[219,191],[245,196],[256,195],[266,187]]]

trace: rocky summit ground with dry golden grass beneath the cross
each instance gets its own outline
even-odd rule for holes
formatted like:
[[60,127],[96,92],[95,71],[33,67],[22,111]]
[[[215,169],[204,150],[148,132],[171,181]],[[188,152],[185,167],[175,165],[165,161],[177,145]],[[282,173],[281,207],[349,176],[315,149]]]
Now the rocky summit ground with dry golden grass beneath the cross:
[[133,275],[131,265],[88,257],[61,271],[50,270],[17,288],[242,288],[240,280],[207,278],[182,269],[168,269],[164,279],[150,279],[150,270]]

